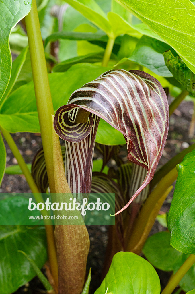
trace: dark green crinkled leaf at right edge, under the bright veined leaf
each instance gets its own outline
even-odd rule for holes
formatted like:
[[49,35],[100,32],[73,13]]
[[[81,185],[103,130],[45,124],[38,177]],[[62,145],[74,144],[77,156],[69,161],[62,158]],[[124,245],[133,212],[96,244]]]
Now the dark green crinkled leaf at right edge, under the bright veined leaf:
[[169,50],[164,52],[164,61],[174,78],[193,96],[195,96],[195,74],[186,66],[179,56],[174,57]]

